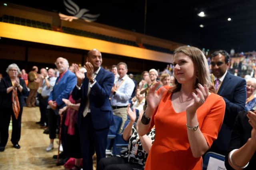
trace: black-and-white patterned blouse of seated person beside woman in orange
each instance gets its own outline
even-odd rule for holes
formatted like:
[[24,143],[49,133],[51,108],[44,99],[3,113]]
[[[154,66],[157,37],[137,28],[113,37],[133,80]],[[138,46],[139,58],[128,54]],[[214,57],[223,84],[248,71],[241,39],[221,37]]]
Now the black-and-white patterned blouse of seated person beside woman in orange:
[[[147,136],[150,137],[152,143],[155,140],[156,129],[153,127]],[[128,143],[128,162],[136,163],[144,166],[148,153],[142,148],[142,144],[140,142],[140,138],[138,135],[138,131],[135,128],[135,125],[132,126],[132,136],[129,139]]]

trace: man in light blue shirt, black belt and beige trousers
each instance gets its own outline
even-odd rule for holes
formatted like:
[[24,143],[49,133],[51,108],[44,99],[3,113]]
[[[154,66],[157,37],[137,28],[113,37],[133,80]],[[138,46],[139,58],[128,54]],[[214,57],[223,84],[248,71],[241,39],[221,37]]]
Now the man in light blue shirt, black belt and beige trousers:
[[114,86],[111,89],[111,106],[114,115],[122,117],[122,125],[119,133],[122,132],[125,121],[127,120],[126,107],[129,104],[129,99],[132,96],[135,84],[126,74],[128,72],[127,64],[120,62],[117,64],[119,78],[115,80]]

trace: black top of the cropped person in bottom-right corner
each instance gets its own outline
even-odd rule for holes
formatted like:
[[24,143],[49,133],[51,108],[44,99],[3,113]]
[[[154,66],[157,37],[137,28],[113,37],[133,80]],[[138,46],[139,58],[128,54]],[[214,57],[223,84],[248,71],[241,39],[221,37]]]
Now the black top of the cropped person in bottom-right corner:
[[[246,113],[238,113],[236,121],[234,123],[234,127],[232,129],[228,154],[230,151],[242,147],[251,137],[252,127],[248,123],[248,120],[249,119],[246,116]],[[228,163],[228,154],[225,157],[225,166],[227,170],[234,170]],[[256,170],[256,153],[254,153],[249,162],[249,165],[244,168],[244,170]]]

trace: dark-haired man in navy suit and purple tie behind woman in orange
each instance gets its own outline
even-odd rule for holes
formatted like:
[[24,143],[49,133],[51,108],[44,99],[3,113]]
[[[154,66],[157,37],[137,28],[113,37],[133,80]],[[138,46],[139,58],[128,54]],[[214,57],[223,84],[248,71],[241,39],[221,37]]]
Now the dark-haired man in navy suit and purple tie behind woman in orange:
[[216,93],[225,100],[226,110],[218,138],[214,141],[210,151],[226,154],[236,115],[245,109],[246,81],[227,71],[230,61],[228,53],[224,50],[215,51],[211,55],[211,65],[212,84]]

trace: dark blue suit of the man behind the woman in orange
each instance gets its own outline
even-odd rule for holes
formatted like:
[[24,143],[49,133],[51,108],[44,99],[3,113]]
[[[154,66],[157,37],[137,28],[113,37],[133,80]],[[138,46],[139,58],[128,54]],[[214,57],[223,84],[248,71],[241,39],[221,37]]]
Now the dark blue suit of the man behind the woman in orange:
[[241,77],[227,72],[218,91],[218,95],[223,97],[226,103],[226,110],[218,138],[212,145],[212,148],[214,148],[212,151],[226,154],[231,137],[231,129],[236,116],[239,111],[245,109],[246,81]]

